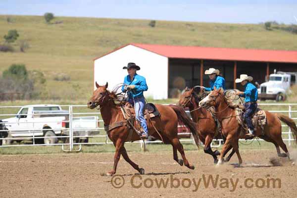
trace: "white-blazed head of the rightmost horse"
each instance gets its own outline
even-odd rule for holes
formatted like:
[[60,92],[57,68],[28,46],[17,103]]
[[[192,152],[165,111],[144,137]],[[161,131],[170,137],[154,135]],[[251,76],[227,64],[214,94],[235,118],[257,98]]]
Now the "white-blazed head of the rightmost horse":
[[213,91],[207,95],[204,99],[199,102],[199,106],[201,107],[210,107],[210,106],[217,106],[221,100],[224,99],[224,92],[223,90],[216,89],[214,87]]

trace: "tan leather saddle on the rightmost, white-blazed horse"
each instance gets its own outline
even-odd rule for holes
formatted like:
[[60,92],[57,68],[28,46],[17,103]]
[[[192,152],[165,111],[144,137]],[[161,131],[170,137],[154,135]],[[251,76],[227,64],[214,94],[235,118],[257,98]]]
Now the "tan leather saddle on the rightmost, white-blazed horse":
[[[243,107],[237,107],[235,108],[235,114],[236,114],[236,119],[240,125],[242,125],[244,128],[247,128],[244,119],[243,119],[243,114],[244,114],[244,108]],[[266,113],[264,110],[257,108],[254,112],[254,114],[251,116],[251,121],[252,125],[254,126],[255,129],[260,127],[262,129],[262,133],[264,131],[264,126],[267,124],[267,119],[266,119]]]

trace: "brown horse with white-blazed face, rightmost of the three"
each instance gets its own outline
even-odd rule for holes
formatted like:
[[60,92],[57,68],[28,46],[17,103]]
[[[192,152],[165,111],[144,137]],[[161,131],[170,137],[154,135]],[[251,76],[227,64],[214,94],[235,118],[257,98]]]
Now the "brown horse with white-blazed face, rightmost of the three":
[[[206,98],[199,102],[199,106],[214,106],[216,110],[216,116],[222,126],[222,135],[226,137],[225,144],[223,145],[221,155],[217,165],[223,162],[223,156],[230,146],[235,150],[239,165],[242,164],[243,160],[239,153],[238,141],[242,133],[246,133],[243,127],[238,123],[234,108],[231,107],[229,101],[224,97],[221,89],[214,89]],[[267,124],[262,129],[258,127],[255,130],[255,136],[262,138],[267,142],[271,142],[277,148],[279,156],[288,156],[290,159],[289,151],[282,139],[282,125],[280,121],[286,123],[292,130],[295,143],[297,143],[297,126],[293,119],[285,115],[278,115],[276,113],[270,113],[265,111]],[[280,153],[281,147],[286,153]]]

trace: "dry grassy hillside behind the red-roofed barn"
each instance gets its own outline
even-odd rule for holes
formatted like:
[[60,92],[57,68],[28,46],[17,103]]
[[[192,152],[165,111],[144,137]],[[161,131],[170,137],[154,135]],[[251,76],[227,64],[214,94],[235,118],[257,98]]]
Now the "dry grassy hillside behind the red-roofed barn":
[[[127,43],[184,46],[297,50],[297,35],[281,30],[267,31],[260,24],[219,24],[149,20],[57,17],[61,24],[46,24],[43,16],[0,15],[0,42],[10,29],[18,40],[27,40],[30,49],[0,52],[0,72],[12,63],[44,72],[47,83],[43,96],[85,101],[92,92],[93,58]],[[70,81],[54,81],[64,73]],[[119,82],[121,79],[119,79]]]

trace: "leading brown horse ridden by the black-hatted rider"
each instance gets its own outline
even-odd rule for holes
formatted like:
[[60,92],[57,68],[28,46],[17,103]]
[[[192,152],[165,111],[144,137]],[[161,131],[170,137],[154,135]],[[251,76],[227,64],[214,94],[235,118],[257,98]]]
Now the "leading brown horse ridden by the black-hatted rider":
[[[88,102],[88,108],[94,109],[99,106],[101,116],[104,122],[104,126],[110,125],[115,122],[125,121],[125,118],[121,112],[121,107],[119,104],[116,104],[114,101],[116,95],[113,92],[107,90],[108,84],[105,86],[99,86],[96,83],[97,89],[93,92],[93,96]],[[195,169],[193,165],[189,163],[185,156],[183,145],[180,143],[177,136],[177,127],[178,122],[182,122],[187,126],[192,132],[193,136],[196,137],[196,125],[195,123],[187,116],[186,112],[179,106],[175,105],[155,105],[161,116],[151,118],[152,123],[148,124],[149,135],[153,136],[156,139],[161,140],[159,134],[162,136],[162,139],[165,144],[171,144],[173,148],[173,159],[177,161],[181,166],[185,164],[190,169]],[[156,127],[159,134],[156,133],[152,124]],[[127,141],[129,135],[128,126],[119,126],[108,132],[108,138],[112,141],[115,146],[114,154],[114,164],[113,169],[107,173],[111,176],[115,174],[117,163],[120,159],[120,155],[135,168],[140,174],[144,174],[145,170],[140,168],[136,163],[134,163],[127,154],[126,148],[124,147],[125,142]],[[138,134],[133,133],[132,141],[140,140]],[[196,144],[198,146],[198,139],[196,139]],[[183,160],[178,159],[177,150],[181,153]]]

